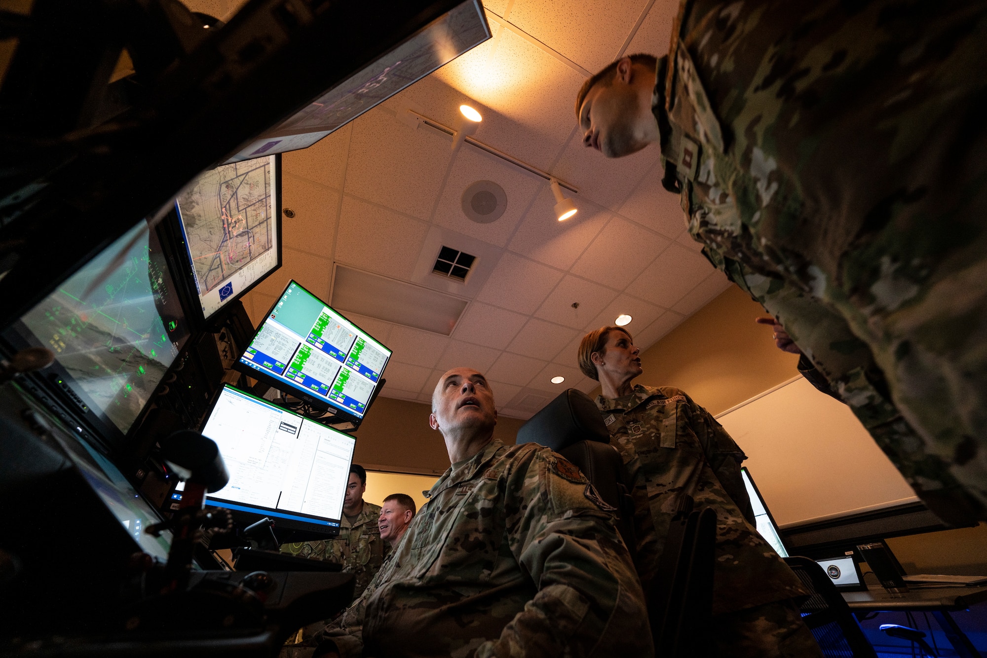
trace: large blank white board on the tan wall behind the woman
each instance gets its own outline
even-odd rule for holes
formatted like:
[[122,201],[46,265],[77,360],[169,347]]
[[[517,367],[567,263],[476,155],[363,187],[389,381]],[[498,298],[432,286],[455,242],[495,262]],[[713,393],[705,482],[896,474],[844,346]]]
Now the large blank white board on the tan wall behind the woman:
[[780,526],[918,500],[849,407],[802,377],[718,419]]

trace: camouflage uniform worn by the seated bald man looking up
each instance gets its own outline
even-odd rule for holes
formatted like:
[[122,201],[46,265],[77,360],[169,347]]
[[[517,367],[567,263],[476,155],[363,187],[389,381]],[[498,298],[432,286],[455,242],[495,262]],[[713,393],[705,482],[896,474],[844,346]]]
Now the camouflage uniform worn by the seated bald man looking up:
[[604,507],[548,448],[493,440],[439,478],[323,639],[344,657],[651,656],[641,584]]

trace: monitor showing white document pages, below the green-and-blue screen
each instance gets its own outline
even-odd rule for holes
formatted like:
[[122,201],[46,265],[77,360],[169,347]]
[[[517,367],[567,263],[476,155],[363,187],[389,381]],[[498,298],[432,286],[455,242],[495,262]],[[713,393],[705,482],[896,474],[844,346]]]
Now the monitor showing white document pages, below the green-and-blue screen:
[[266,516],[278,527],[339,532],[353,436],[229,385],[202,435],[219,446],[230,473],[207,505]]

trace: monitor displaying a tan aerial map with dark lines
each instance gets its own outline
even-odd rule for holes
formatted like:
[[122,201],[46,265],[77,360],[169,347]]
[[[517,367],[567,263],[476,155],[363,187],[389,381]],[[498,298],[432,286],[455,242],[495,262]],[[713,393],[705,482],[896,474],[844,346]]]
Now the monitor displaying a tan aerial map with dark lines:
[[279,166],[276,155],[221,165],[175,200],[206,319],[281,264]]

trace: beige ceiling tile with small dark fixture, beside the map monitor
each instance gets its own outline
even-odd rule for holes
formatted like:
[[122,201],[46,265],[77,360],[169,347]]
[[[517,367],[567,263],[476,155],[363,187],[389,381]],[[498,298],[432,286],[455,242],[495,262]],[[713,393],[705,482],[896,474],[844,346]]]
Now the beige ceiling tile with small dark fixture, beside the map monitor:
[[332,258],[340,193],[289,174],[284,175],[281,187],[283,206],[295,213],[294,217],[281,215],[283,245]]

